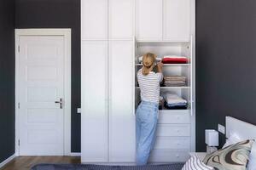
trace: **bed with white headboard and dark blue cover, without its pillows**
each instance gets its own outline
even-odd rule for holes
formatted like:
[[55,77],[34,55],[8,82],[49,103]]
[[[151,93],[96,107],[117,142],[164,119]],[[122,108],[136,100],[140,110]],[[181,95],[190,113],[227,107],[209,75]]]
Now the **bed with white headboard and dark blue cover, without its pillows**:
[[[234,134],[240,139],[256,139],[256,126],[242,122],[236,118],[226,116],[226,138],[227,141],[233,138]],[[236,141],[233,141],[235,143]],[[256,146],[252,153],[256,153]],[[256,162],[255,162],[256,163]],[[32,170],[181,170],[184,163],[171,163],[166,165],[147,165],[147,166],[104,166],[104,165],[57,165],[40,164],[32,167]],[[256,167],[249,170],[256,170]]]

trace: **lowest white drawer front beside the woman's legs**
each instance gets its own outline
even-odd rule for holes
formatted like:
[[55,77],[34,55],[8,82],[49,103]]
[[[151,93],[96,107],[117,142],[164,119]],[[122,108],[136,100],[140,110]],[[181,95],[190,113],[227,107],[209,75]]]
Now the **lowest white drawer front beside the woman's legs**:
[[189,150],[152,150],[150,162],[185,162],[189,160]]

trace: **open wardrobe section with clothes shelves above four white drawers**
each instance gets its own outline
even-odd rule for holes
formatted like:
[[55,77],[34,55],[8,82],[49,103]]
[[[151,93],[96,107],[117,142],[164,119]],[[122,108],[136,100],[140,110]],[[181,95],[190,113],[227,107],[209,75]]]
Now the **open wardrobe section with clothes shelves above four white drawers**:
[[[192,38],[188,42],[137,41],[135,71],[143,67],[142,55],[157,54],[164,63],[164,80],[160,83],[159,119],[151,162],[186,161],[195,150]],[[135,77],[135,100],[141,102],[140,87]]]

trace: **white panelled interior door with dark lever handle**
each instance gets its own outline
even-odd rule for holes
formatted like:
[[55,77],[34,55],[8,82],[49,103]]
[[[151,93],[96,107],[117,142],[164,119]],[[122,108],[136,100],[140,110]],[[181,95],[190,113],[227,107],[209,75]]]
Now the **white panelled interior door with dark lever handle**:
[[21,156],[64,151],[64,36],[20,36],[17,87]]

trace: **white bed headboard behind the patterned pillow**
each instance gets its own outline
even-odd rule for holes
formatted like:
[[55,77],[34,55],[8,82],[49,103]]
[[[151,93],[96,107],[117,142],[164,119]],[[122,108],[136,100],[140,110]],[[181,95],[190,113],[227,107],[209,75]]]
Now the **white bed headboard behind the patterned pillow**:
[[231,133],[236,133],[242,139],[256,139],[256,126],[242,122],[234,117],[226,116],[226,138]]

